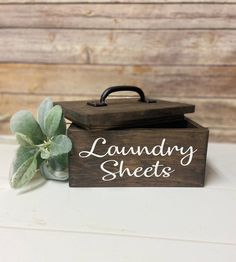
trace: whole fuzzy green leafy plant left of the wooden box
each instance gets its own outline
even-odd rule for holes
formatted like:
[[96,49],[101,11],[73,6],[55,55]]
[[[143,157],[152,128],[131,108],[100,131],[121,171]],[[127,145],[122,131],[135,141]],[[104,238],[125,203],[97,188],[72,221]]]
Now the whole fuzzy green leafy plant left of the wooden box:
[[62,108],[46,98],[38,108],[37,120],[21,110],[12,116],[11,131],[20,144],[10,169],[10,185],[20,188],[37,172],[46,179],[68,179],[68,152],[72,143],[66,135]]

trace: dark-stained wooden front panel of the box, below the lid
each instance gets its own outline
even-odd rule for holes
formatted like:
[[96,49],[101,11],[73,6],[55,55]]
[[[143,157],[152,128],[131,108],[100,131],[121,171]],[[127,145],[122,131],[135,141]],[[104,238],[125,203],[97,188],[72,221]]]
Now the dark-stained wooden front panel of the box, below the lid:
[[[208,130],[201,127],[174,128],[174,126],[168,129],[131,128],[96,132],[71,126],[68,132],[73,143],[69,156],[69,185],[72,187],[203,186]],[[95,144],[92,150],[91,147],[99,138],[102,138],[103,142]],[[170,148],[178,145],[185,150],[192,146],[196,152],[191,163],[183,166],[180,163],[181,156],[177,152],[169,157],[159,155],[162,144],[165,150],[167,150],[167,145]],[[110,147],[113,148],[112,155],[107,154]],[[158,156],[146,151],[141,155],[118,152],[115,154],[114,147],[117,151],[124,147],[123,152],[128,152],[130,148],[133,149],[131,152],[136,152],[138,147],[141,150],[147,148],[150,152],[157,147],[158,150],[155,153]],[[95,154],[104,156],[84,157],[90,149]],[[165,174],[163,171],[165,168],[169,171],[171,169],[173,173]],[[145,170],[149,171],[145,173]]]

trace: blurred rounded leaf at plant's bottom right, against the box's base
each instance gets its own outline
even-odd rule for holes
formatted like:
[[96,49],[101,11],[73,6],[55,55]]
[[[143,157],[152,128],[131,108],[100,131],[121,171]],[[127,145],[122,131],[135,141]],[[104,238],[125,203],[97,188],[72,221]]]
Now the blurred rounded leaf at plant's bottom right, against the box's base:
[[43,177],[50,180],[66,181],[69,178],[68,168],[62,168],[59,163],[52,160],[44,161],[40,165],[40,173]]

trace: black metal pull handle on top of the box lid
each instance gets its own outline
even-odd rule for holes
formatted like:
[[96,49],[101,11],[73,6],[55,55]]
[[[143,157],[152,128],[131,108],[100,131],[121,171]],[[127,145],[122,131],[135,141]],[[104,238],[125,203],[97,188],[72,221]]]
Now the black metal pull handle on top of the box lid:
[[145,97],[144,92],[141,88],[137,87],[137,86],[112,86],[107,88],[105,91],[103,91],[100,100],[99,101],[90,101],[87,104],[90,106],[106,106],[106,98],[114,92],[120,92],[120,91],[132,91],[132,92],[136,92],[139,94],[140,102],[144,102],[144,103],[155,103],[156,100],[154,99],[148,99]]

